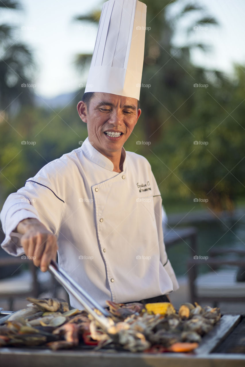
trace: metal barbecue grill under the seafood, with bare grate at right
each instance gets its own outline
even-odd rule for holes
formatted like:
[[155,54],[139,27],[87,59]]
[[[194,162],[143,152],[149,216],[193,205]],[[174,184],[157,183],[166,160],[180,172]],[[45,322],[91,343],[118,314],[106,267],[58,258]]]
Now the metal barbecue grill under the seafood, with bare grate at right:
[[0,366],[21,367],[241,367],[245,366],[245,315],[223,315],[195,353],[131,353],[80,345],[72,350],[0,348]]

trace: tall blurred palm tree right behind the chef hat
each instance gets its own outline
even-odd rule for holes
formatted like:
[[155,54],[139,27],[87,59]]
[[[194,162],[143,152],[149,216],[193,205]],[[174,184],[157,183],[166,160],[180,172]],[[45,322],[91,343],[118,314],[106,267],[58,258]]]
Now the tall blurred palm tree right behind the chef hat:
[[[147,5],[146,26],[150,27],[150,32],[146,31],[142,83],[150,84],[150,88],[141,88],[140,102],[144,106],[141,120],[144,123],[145,136],[148,140],[150,138],[152,142],[157,142],[161,140],[161,133],[164,131],[163,121],[176,123],[171,113],[187,99],[185,109],[191,108],[193,99],[189,96],[193,93],[196,78],[206,79],[206,70],[195,68],[191,63],[190,55],[195,48],[207,51],[207,46],[191,42],[181,48],[174,46],[173,38],[178,22],[184,17],[195,14],[195,22],[183,30],[187,37],[194,32],[194,26],[216,25],[217,22],[207,15],[203,7],[195,4],[185,5],[174,17],[170,17],[169,7],[173,3],[181,6],[182,0],[144,0],[143,2]],[[97,25],[99,16],[100,11],[94,10],[75,19]],[[193,17],[190,18],[193,19]],[[91,54],[77,55],[75,61],[77,67],[89,68],[91,57]],[[212,70],[212,73],[215,74],[215,70]],[[216,76],[221,77],[219,73]]]

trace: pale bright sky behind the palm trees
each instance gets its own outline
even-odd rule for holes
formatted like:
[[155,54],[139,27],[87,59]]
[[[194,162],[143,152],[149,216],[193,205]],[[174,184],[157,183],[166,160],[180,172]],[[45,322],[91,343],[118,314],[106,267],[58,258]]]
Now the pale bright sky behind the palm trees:
[[[154,0],[152,0],[154,1]],[[1,12],[0,22],[16,26],[17,41],[24,42],[32,50],[38,65],[35,76],[35,92],[46,98],[72,92],[86,81],[86,75],[75,69],[76,54],[92,52],[97,26],[79,22],[75,16],[86,14],[98,7],[98,0],[20,0],[23,10]],[[182,3],[191,1],[183,0]],[[192,61],[226,73],[232,73],[234,63],[245,64],[244,0],[196,0],[207,9],[219,27],[197,29],[192,41],[203,41],[212,46],[212,52],[193,52]],[[181,2],[180,2],[181,3]],[[178,11],[178,4],[170,13]],[[185,17],[176,29],[175,44],[180,47],[187,41],[183,26],[193,19]]]

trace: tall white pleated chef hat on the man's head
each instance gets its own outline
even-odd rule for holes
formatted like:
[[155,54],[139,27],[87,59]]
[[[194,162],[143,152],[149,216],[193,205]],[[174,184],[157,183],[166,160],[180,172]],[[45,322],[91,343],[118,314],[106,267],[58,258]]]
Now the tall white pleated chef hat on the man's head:
[[86,92],[105,92],[139,99],[146,5],[138,0],[103,4]]

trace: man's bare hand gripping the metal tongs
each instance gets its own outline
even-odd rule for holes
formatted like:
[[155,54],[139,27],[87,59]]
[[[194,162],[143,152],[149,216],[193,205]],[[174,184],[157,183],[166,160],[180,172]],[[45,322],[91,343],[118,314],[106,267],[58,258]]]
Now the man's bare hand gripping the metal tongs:
[[45,225],[35,218],[24,219],[19,222],[16,231],[21,233],[21,245],[26,256],[33,257],[36,266],[46,272],[50,261],[56,261],[58,250],[57,239],[47,230]]

